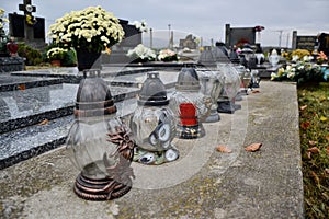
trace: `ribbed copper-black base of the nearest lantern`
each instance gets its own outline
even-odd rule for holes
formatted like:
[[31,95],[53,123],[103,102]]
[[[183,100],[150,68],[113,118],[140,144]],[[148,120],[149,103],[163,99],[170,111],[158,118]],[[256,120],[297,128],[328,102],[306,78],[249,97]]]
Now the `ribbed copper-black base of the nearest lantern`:
[[87,200],[111,200],[122,197],[131,188],[132,180],[129,177],[123,184],[112,178],[92,180],[79,174],[73,189],[80,198]]

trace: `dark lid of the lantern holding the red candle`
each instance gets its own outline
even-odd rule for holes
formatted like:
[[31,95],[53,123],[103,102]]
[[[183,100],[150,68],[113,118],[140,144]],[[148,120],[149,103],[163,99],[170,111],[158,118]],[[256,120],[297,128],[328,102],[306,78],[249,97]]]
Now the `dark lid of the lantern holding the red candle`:
[[200,80],[194,68],[182,68],[179,73],[175,89],[180,91],[200,91]]

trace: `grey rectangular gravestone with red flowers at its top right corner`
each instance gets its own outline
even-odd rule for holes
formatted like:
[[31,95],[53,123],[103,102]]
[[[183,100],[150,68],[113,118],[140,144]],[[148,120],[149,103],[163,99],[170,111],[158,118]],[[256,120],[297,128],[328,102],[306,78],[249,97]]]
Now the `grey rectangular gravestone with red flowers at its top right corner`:
[[254,27],[230,27],[230,24],[226,24],[225,28],[225,45],[227,48],[231,48],[237,44],[256,44]]

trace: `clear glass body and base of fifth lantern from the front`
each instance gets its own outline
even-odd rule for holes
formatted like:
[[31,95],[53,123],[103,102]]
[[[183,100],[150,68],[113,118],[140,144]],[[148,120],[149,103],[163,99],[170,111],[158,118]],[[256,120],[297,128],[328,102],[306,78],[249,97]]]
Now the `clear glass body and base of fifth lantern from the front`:
[[235,99],[240,91],[240,77],[237,70],[227,62],[218,62],[217,68],[223,77],[224,89],[218,99],[218,113],[235,113],[236,110],[240,108],[239,105],[235,104]]

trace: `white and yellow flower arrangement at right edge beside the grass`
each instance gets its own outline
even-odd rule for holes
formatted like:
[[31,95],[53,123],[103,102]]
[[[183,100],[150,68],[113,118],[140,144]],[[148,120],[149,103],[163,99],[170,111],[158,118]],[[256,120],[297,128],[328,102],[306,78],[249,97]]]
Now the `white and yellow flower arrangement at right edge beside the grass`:
[[272,81],[294,81],[297,84],[306,82],[325,81],[325,72],[321,67],[315,62],[310,62],[311,56],[304,56],[303,59],[280,68],[277,73],[271,74]]

